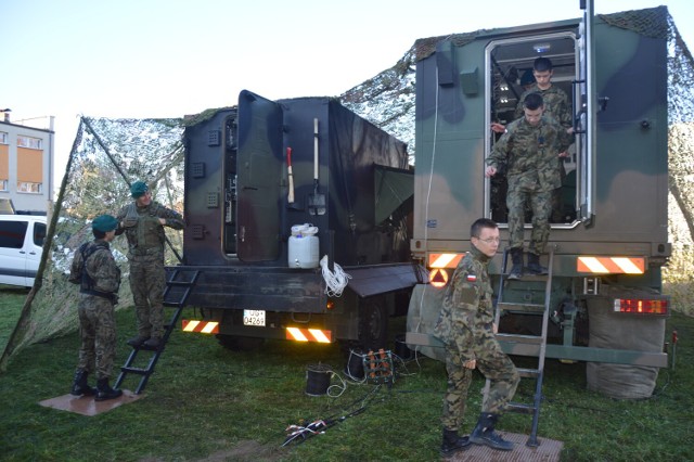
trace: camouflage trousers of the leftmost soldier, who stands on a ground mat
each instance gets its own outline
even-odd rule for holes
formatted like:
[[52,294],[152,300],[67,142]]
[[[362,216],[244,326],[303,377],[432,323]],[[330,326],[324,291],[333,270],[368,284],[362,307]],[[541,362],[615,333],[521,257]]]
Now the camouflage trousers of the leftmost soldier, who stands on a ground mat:
[[113,303],[103,297],[80,294],[77,308],[81,346],[77,369],[108,378],[116,356],[116,321]]

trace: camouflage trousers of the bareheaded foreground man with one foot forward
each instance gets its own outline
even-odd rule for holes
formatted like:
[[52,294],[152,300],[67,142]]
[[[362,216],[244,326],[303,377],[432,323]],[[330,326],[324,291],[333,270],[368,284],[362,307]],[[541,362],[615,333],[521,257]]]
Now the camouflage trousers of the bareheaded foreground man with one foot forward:
[[477,370],[490,381],[489,395],[483,402],[481,412],[502,413],[520,381],[515,365],[501,350],[491,329],[467,332],[470,335],[460,337],[446,347],[448,388],[444,396],[441,423],[448,429],[460,429],[463,424],[467,389],[473,377],[473,371],[463,367],[466,360],[474,357]]

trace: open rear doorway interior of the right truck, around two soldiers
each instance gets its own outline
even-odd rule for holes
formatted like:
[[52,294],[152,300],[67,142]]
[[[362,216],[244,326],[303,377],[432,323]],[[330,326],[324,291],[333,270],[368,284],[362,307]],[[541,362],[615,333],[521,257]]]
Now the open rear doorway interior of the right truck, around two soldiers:
[[[561,88],[568,95],[568,103],[574,108],[574,81],[577,77],[577,47],[573,34],[562,33],[550,36],[523,37],[492,41],[487,49],[489,68],[488,78],[491,88],[489,118],[492,123],[507,125],[513,121],[516,106],[525,91],[522,77],[532,72],[532,63],[539,56],[549,57],[553,65],[552,85]],[[492,142],[501,136],[490,130]],[[487,153],[489,154],[489,153]],[[557,153],[558,155],[558,153]],[[551,223],[553,227],[569,227],[575,223],[578,209],[577,174],[579,171],[576,143],[568,150],[568,157],[561,157],[564,165],[562,188],[553,206]],[[496,175],[489,181],[491,219],[499,223],[507,222],[506,178]],[[531,210],[526,205],[526,223],[530,222]]]

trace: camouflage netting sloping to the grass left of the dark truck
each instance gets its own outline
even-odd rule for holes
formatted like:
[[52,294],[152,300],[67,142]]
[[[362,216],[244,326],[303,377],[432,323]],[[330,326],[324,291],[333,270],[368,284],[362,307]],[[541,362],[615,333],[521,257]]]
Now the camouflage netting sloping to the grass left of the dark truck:
[[[183,211],[182,131],[179,119],[81,118],[54,214],[49,217],[39,277],[0,360],[0,370],[22,347],[77,330],[78,287],[67,281],[74,252],[93,239],[94,217],[115,215],[132,201],[132,182],[147,182],[155,201]],[[182,233],[168,228],[166,233],[166,264],[175,265],[182,251]],[[131,307],[125,236],[116,238],[112,249],[123,273],[116,309]],[[132,325],[119,329],[134,331],[134,313]]]

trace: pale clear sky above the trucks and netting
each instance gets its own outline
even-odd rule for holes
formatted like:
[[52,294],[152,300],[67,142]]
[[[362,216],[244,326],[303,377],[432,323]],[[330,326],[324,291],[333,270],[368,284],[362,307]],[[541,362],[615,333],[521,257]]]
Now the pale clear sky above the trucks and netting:
[[[60,184],[79,116],[182,117],[236,104],[336,97],[416,39],[580,17],[579,0],[0,0],[0,110],[54,117]],[[541,5],[541,2],[537,4]],[[594,0],[596,13],[668,7],[690,49],[692,0]]]

